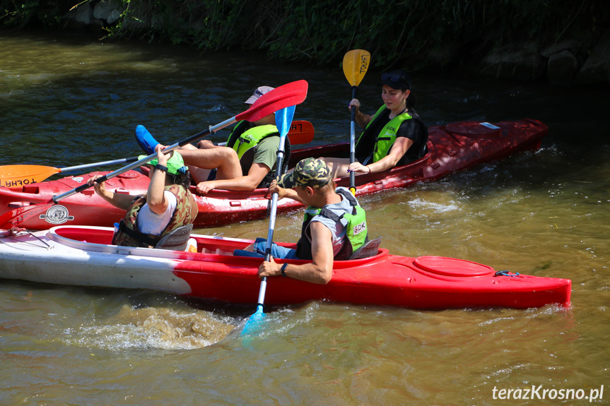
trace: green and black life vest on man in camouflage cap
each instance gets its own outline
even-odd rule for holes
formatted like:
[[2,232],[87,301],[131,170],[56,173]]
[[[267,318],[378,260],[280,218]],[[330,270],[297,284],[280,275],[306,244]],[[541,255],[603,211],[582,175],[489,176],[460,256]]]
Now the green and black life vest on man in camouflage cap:
[[358,205],[356,198],[346,189],[336,189],[336,193],[344,196],[352,206],[352,213],[343,213],[337,215],[329,208],[312,208],[311,206],[305,211],[305,217],[303,218],[303,227],[301,227],[301,237],[297,243],[296,256],[299,259],[312,259],[312,244],[311,244],[311,231],[310,223],[313,217],[316,215],[322,215],[324,217],[339,222],[341,218],[348,221],[346,226],[346,239],[347,241],[341,247],[341,250],[336,253],[334,259],[346,260],[353,252],[363,246],[368,241],[368,228],[366,226],[366,213],[363,208]]

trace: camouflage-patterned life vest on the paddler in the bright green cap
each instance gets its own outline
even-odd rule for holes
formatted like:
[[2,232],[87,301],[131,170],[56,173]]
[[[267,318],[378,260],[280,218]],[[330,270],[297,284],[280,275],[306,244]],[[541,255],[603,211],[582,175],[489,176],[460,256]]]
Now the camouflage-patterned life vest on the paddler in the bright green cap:
[[176,210],[167,227],[160,235],[143,234],[138,228],[138,213],[146,203],[146,195],[135,198],[127,209],[127,213],[119,223],[119,229],[112,237],[112,244],[120,246],[139,246],[153,248],[157,242],[172,229],[192,224],[197,217],[197,202],[192,193],[184,189],[184,186],[170,185],[165,186],[164,190],[174,193],[176,196]]

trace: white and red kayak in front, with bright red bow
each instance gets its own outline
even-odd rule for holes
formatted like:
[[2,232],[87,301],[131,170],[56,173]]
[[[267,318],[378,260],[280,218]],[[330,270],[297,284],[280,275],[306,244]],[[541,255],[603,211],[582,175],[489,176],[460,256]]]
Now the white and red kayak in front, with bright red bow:
[[[233,256],[233,250],[244,248],[251,240],[193,234],[197,252],[165,251],[110,245],[112,233],[107,227],[66,225],[15,235],[1,233],[0,278],[153,289],[210,301],[257,303],[257,268],[262,259]],[[265,303],[328,300],[413,309],[525,309],[568,306],[571,286],[568,279],[500,273],[462,259],[408,258],[379,249],[370,258],[335,261],[328,285],[269,278]]]

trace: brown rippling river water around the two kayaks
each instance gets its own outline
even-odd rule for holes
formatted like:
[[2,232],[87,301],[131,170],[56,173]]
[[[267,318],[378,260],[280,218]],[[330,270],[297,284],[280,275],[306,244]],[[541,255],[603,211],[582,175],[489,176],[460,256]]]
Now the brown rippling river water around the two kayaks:
[[[174,143],[242,112],[258,85],[300,79],[310,87],[295,119],[314,124],[314,144],[346,141],[349,132],[351,89],[339,66],[6,32],[0,61],[1,165],[138,155],[136,124]],[[369,71],[360,84],[365,112],[381,104],[378,77]],[[429,125],[530,117],[548,124],[549,136],[535,153],[361,198],[372,234],[398,255],[570,278],[570,309],[310,302],[274,309],[259,335],[243,340],[233,328],[254,312],[248,306],[5,280],[0,403],[608,404],[609,88],[412,79]],[[301,215],[278,217],[276,239],[295,241]],[[254,238],[267,227],[261,220],[198,231]],[[510,400],[500,390],[512,390]],[[562,399],[568,390],[580,399]]]

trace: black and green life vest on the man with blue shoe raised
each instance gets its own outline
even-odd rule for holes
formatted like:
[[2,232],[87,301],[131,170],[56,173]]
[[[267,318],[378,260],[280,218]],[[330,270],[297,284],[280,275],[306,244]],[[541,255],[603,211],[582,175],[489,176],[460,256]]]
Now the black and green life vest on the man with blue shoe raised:
[[[246,176],[252,167],[254,162],[254,155],[257,152],[257,145],[268,137],[279,137],[278,129],[276,126],[267,124],[264,126],[252,126],[248,121],[240,121],[231,131],[227,140],[227,146],[233,148],[237,153],[237,157],[240,160],[242,167],[242,174]],[[283,172],[288,169],[288,162],[290,161],[291,145],[286,137],[284,143],[284,157],[282,162]],[[267,187],[271,184],[271,181],[276,178],[276,166],[269,168],[269,174],[264,177],[259,188]]]

